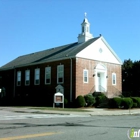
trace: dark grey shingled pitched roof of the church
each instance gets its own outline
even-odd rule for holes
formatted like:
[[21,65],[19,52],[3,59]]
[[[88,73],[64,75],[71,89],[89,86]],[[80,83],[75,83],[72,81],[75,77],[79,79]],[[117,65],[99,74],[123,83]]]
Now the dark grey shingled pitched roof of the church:
[[43,63],[57,59],[67,59],[69,57],[74,57],[78,52],[86,48],[88,45],[96,41],[98,38],[99,37],[92,38],[80,44],[78,42],[75,42],[68,45],[59,46],[56,48],[51,48],[44,51],[19,56],[18,58],[0,67],[0,70],[13,69],[14,67],[36,64],[39,62]]

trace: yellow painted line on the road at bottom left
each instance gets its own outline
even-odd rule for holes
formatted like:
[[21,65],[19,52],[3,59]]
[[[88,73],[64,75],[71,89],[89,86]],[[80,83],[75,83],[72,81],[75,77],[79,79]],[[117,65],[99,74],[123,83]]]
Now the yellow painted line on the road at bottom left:
[[40,134],[30,134],[30,135],[23,135],[23,136],[0,138],[0,140],[20,140],[20,139],[26,139],[26,138],[51,136],[51,135],[60,134],[60,133],[62,132],[47,132],[47,133],[40,133]]

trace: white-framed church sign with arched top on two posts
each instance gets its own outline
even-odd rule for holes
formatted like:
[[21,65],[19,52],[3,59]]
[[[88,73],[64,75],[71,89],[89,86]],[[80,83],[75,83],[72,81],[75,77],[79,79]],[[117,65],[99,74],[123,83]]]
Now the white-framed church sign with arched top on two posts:
[[63,104],[63,108],[64,108],[64,95],[60,92],[57,92],[54,94],[54,103],[53,103],[53,107],[55,107],[56,103],[62,103]]

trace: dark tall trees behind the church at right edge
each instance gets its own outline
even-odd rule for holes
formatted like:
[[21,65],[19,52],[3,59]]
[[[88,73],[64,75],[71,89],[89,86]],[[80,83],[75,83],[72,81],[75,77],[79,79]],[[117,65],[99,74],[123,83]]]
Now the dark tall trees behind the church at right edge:
[[[140,96],[140,61],[125,60],[122,65],[122,91]],[[131,94],[130,94],[131,93]]]

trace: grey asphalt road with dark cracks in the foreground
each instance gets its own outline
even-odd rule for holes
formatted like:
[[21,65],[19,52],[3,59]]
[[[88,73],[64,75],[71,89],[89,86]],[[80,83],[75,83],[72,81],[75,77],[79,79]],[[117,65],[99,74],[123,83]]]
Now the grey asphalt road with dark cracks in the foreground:
[[140,129],[139,115],[3,114],[0,140],[128,140],[130,128]]

